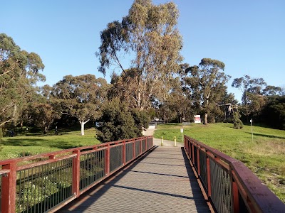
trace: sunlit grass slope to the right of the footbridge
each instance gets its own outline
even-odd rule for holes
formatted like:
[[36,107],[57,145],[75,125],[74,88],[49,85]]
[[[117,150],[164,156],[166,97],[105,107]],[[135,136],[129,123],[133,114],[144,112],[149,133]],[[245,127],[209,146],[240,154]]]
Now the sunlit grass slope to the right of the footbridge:
[[242,161],[264,182],[283,202],[285,202],[285,131],[260,126],[244,126],[234,129],[233,124],[180,124],[158,125],[155,138],[165,138],[182,142],[183,133],[197,141],[216,148]]

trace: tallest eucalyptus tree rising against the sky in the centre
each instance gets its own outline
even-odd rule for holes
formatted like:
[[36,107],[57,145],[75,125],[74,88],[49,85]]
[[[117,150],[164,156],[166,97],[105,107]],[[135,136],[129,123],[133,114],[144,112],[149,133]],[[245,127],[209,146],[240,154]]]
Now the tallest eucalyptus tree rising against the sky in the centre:
[[[172,2],[155,6],[150,0],[135,0],[128,16],[108,23],[100,33],[99,71],[105,75],[113,65],[123,72],[123,78],[131,78],[133,91],[129,95],[136,108],[147,109],[152,97],[163,97],[171,87],[170,78],[180,68],[178,16]],[[123,54],[132,58],[127,68],[123,67]]]

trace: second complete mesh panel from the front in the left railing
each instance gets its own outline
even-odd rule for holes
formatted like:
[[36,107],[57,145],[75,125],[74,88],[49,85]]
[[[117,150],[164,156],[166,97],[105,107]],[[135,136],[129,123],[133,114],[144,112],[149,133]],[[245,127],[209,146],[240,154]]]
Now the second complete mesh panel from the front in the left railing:
[[105,151],[95,151],[81,155],[80,158],[80,185],[83,190],[105,175]]

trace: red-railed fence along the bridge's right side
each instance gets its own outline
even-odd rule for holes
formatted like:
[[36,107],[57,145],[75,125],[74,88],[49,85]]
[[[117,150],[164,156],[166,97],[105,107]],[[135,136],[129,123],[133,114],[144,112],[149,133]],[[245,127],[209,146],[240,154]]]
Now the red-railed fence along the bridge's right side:
[[244,163],[189,136],[184,148],[215,211],[285,212],[285,204]]

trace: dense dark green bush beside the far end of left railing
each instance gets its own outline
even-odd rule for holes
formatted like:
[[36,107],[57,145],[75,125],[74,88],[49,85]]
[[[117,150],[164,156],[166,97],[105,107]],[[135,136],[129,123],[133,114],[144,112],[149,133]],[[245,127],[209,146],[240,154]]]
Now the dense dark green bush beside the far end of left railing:
[[[141,136],[141,129],[135,125],[128,106],[115,98],[105,103],[102,124],[99,128],[98,139],[101,142],[118,141]],[[138,122],[139,124],[139,122]]]

